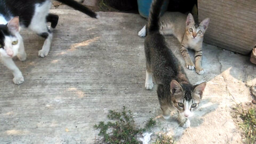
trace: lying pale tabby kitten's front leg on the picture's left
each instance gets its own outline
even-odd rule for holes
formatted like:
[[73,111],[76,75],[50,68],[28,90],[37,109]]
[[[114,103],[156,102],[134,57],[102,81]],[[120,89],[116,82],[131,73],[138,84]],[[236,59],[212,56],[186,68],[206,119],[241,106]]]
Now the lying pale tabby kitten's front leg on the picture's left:
[[194,65],[193,61],[191,60],[190,55],[188,53],[188,46],[185,44],[181,44],[180,52],[181,52],[181,55],[183,56],[183,59],[186,62],[186,67],[188,69],[194,69],[195,65]]

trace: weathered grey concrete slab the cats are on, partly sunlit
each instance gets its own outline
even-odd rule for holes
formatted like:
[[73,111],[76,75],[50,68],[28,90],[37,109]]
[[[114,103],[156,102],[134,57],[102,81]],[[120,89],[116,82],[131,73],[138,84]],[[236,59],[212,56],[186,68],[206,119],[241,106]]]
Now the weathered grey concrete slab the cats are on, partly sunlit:
[[[146,20],[138,14],[102,12],[92,19],[74,10],[52,10],[59,25],[46,58],[38,58],[44,39],[23,31],[27,60],[15,63],[25,83],[14,85],[0,65],[0,143],[97,143],[93,125],[107,121],[108,110],[123,106],[143,126],[154,117],[153,130],[169,132],[177,143],[242,143],[230,116],[235,103],[251,101],[255,66],[249,57],[204,44],[204,75],[186,73],[191,83],[207,82],[201,108],[191,127],[179,127],[174,118],[161,118],[156,86],[145,85],[144,38],[137,36]],[[179,43],[166,37],[185,62]],[[153,137],[154,138],[154,137]]]

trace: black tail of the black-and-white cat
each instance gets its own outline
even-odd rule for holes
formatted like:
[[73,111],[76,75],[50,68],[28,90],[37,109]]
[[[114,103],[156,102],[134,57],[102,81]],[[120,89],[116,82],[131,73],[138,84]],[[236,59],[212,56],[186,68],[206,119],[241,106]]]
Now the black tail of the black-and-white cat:
[[74,8],[75,10],[81,11],[87,15],[89,15],[92,18],[99,18],[99,15],[95,12],[93,12],[92,10],[90,10],[89,8],[85,7],[82,4],[79,4],[78,2],[74,1],[74,0],[57,0],[63,4],[66,4],[72,8]]

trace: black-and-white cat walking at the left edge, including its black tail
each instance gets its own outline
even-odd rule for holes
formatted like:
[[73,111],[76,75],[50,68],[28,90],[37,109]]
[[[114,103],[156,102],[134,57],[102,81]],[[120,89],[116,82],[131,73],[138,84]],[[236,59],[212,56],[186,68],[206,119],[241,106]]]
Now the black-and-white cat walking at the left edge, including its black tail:
[[[81,11],[92,18],[98,15],[87,7],[73,0],[58,0],[74,9]],[[19,60],[26,60],[26,52],[21,35],[20,27],[28,28],[39,36],[45,38],[39,57],[45,57],[50,50],[52,30],[57,26],[58,15],[49,13],[51,0],[1,0],[0,1],[0,60],[12,71],[13,82],[24,82],[21,71],[15,65],[12,58],[17,56]],[[50,28],[47,22],[51,22]]]

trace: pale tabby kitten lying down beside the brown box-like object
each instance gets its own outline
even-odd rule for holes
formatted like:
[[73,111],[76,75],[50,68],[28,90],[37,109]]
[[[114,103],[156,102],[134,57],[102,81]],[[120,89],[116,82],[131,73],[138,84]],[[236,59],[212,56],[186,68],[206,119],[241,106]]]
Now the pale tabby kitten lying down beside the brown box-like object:
[[[163,35],[174,35],[181,43],[180,52],[188,69],[196,68],[196,73],[204,74],[201,66],[202,47],[205,31],[210,19],[206,18],[201,23],[196,23],[193,15],[187,16],[180,12],[166,12],[159,20],[159,32]],[[146,36],[146,26],[138,33],[140,37]],[[195,50],[195,65],[190,58],[188,48]]]

